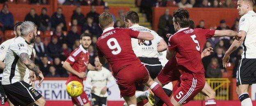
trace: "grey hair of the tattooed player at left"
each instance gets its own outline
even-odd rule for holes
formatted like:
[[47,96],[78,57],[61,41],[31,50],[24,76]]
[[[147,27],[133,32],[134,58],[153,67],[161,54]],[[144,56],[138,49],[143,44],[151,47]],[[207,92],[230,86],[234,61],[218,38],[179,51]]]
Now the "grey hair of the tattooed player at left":
[[34,22],[31,21],[25,21],[21,24],[21,36],[26,36],[30,32],[34,32],[36,25]]

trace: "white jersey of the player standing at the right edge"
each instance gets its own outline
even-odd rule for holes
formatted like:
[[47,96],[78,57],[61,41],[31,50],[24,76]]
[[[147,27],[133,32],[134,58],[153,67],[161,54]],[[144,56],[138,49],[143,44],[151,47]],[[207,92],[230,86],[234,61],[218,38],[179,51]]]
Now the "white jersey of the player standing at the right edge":
[[256,59],[256,13],[254,11],[248,11],[240,18],[239,31],[247,33],[242,43],[242,58]]

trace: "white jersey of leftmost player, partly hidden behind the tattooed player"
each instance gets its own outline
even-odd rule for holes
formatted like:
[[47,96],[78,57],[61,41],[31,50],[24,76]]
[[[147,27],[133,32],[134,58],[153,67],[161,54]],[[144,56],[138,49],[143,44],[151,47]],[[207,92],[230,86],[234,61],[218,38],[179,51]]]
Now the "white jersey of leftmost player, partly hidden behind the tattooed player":
[[[5,42],[3,42],[1,45],[0,45],[0,61],[4,62],[5,60],[5,56],[6,56],[6,53],[7,53],[7,50],[9,48],[9,46],[11,45],[12,42],[14,42],[14,39],[15,38],[11,38],[9,40],[6,40]],[[0,69],[0,74],[3,73],[4,70],[1,70]],[[2,77],[0,75],[0,77]]]

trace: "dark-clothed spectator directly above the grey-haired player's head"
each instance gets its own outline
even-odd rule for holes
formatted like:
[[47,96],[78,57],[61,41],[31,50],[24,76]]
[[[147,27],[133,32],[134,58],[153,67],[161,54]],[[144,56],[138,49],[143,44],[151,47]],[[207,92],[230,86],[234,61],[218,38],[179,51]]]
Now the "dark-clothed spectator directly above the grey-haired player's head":
[[37,27],[40,27],[40,17],[37,15],[36,10],[34,8],[30,9],[30,13],[28,13],[25,17],[25,21],[34,22]]

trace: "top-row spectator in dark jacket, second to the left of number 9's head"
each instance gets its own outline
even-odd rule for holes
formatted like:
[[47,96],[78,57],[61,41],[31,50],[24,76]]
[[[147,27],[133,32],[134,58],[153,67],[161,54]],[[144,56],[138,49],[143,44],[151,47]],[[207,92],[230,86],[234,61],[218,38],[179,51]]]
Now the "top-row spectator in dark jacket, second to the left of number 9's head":
[[81,7],[78,6],[73,11],[73,15],[71,16],[71,20],[76,19],[79,23],[78,25],[82,26],[85,23],[85,15],[81,11]]

